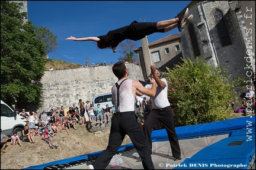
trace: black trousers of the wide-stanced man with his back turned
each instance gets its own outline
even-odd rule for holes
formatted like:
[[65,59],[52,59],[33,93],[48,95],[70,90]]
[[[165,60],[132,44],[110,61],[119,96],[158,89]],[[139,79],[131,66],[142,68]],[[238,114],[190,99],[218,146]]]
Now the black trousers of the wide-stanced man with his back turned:
[[144,169],[155,169],[151,158],[151,150],[146,142],[145,135],[137,122],[135,112],[116,112],[111,119],[108,146],[98,158],[92,162],[94,169],[105,169],[114,154],[120,148],[124,136],[128,135],[142,159]]

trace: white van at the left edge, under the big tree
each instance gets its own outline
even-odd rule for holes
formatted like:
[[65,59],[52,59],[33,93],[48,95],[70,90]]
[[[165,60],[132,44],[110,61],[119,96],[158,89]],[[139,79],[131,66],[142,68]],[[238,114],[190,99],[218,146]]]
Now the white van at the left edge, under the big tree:
[[24,117],[17,115],[17,113],[11,109],[6,103],[1,100],[1,129],[2,134],[9,137],[13,132],[17,132],[17,135],[22,136],[21,131],[24,129],[26,123]]

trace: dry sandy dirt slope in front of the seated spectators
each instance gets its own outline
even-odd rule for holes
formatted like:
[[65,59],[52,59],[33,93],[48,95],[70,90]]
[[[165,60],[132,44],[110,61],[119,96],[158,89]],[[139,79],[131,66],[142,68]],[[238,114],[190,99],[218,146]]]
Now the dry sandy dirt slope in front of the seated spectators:
[[[41,140],[40,136],[34,137],[35,143],[21,142],[23,146],[15,145],[12,148],[11,140],[8,140],[6,153],[1,152],[1,169],[23,169],[28,166],[41,165],[74,156],[85,155],[107,148],[110,128],[97,132],[88,132],[85,126],[76,125],[76,130],[65,130],[50,139],[59,146],[57,149],[50,149],[49,145]],[[123,140],[122,145],[131,143],[129,136]]]

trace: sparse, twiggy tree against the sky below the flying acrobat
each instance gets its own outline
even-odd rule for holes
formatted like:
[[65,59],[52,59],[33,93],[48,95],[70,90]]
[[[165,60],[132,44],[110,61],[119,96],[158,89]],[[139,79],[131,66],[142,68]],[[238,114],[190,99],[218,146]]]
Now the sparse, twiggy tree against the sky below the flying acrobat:
[[126,40],[126,43],[121,42],[119,44],[120,50],[118,52],[123,55],[123,57],[119,57],[119,61],[130,61],[133,63],[133,61],[136,60],[136,53],[133,51],[137,48],[137,45],[132,40]]

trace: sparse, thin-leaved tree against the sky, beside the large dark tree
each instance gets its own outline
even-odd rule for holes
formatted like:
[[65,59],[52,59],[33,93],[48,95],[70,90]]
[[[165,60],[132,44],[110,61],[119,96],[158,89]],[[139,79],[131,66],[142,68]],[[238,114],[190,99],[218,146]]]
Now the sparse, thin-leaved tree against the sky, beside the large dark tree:
[[53,35],[52,32],[45,27],[37,27],[35,33],[37,39],[44,42],[46,54],[56,53],[58,47],[57,35]]

